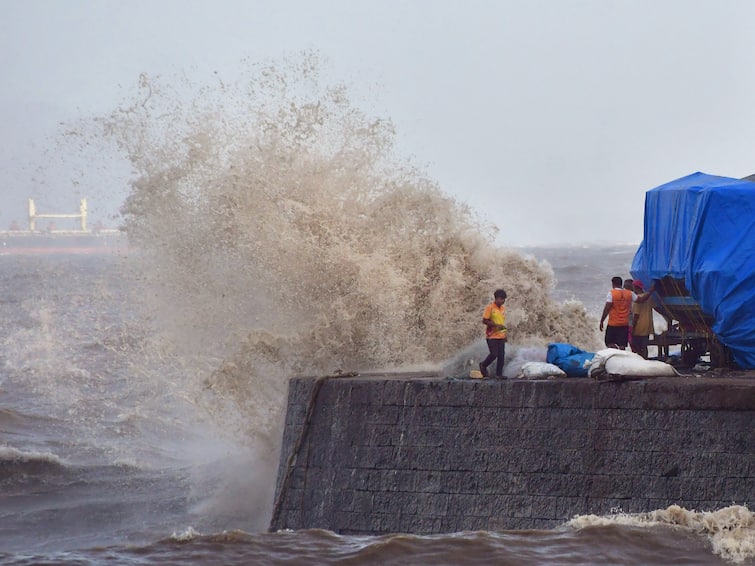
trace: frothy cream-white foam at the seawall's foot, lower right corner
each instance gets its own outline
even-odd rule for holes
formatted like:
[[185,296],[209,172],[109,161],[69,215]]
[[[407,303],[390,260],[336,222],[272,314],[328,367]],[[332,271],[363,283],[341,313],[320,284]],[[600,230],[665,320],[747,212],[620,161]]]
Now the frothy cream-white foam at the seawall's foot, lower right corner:
[[568,525],[577,529],[606,525],[682,528],[705,536],[713,552],[725,560],[740,564],[755,558],[755,514],[741,505],[703,512],[672,505],[649,513],[580,515]]

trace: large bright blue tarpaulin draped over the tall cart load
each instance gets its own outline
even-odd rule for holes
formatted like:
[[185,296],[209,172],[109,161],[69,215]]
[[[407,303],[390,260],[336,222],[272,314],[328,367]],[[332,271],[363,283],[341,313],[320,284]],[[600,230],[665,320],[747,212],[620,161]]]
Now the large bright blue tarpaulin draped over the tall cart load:
[[734,361],[755,368],[755,182],[693,173],[645,193],[631,273],[684,280]]

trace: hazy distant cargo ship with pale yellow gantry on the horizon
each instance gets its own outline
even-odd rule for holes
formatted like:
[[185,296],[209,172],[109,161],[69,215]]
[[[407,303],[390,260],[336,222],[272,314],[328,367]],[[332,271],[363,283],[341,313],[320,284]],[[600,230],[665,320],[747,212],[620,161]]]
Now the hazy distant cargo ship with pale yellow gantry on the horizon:
[[[104,254],[126,250],[127,238],[120,230],[97,222],[87,224],[87,201],[81,199],[78,212],[71,214],[39,213],[29,199],[27,227],[13,222],[9,230],[0,231],[0,255],[19,254]],[[47,221],[44,226],[40,220]],[[74,227],[57,227],[56,221],[75,223]]]

